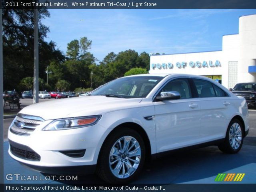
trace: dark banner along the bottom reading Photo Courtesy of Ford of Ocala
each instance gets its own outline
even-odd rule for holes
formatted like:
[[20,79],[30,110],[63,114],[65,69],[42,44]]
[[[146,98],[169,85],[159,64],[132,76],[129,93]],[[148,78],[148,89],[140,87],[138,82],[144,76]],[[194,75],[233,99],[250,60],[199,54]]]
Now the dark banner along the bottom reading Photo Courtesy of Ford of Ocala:
[[254,192],[256,184],[0,184],[5,192],[53,192],[53,191],[140,191],[140,192]]

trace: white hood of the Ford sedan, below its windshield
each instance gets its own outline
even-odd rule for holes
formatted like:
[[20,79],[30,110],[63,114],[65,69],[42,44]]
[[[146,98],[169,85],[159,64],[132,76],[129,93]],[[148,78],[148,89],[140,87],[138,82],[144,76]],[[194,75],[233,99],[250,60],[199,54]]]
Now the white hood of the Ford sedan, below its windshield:
[[112,98],[106,96],[84,96],[32,104],[20,113],[39,116],[44,120],[90,116],[138,106],[142,98]]

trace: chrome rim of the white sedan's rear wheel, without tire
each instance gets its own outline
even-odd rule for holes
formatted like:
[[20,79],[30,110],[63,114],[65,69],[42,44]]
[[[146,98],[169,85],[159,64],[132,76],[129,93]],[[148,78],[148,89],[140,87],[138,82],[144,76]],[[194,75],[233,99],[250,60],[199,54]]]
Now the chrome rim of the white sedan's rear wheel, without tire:
[[242,130],[238,123],[232,124],[229,131],[229,142],[230,146],[236,150],[240,147],[242,142]]

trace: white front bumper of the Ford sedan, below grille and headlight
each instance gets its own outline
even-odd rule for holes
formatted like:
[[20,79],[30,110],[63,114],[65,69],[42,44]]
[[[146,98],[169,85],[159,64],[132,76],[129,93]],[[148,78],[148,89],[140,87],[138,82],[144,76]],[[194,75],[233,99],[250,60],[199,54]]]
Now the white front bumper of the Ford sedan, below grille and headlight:
[[[18,162],[35,170],[50,173],[51,168],[60,170],[64,167],[92,166],[97,164],[98,153],[108,130],[99,124],[70,130],[42,131],[36,128],[29,136],[17,135],[8,131],[10,146],[8,153]],[[17,150],[14,152],[13,144]],[[12,148],[11,148],[12,147]],[[64,152],[85,150],[82,157],[70,157]],[[40,158],[31,159],[20,153],[34,152]],[[45,169],[45,170],[44,170]],[[75,169],[75,168],[74,168]],[[91,169],[91,168],[90,168]],[[72,168],[68,168],[72,170]],[[53,171],[53,173],[56,173]],[[67,172],[65,172],[67,173]]]

